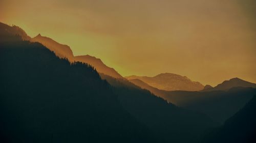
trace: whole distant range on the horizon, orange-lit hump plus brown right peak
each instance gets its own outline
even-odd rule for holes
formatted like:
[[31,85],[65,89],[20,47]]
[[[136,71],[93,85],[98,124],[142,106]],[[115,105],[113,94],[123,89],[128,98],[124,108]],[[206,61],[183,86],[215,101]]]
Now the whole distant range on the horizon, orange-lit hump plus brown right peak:
[[[203,86],[200,82],[191,81],[186,76],[180,76],[172,73],[162,73],[154,77],[147,76],[126,76],[126,79],[138,85],[142,89],[147,89],[152,93],[163,97],[166,91],[228,91],[236,87],[256,88],[255,83],[251,83],[240,78],[225,80],[216,87],[211,85]],[[175,88],[176,87],[176,88]],[[177,88],[179,87],[179,88]],[[192,90],[192,88],[194,90]],[[174,90],[176,89],[176,90]]]

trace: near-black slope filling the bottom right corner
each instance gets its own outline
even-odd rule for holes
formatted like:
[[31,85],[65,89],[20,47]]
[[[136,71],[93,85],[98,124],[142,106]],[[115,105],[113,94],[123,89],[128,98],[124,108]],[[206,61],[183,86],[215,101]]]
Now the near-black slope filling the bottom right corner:
[[256,142],[256,96],[225,124],[208,133],[202,142]]

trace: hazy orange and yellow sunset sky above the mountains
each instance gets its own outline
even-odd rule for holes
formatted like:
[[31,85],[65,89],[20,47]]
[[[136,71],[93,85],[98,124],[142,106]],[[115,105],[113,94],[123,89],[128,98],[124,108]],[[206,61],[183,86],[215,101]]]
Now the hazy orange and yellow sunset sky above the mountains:
[[122,76],[256,82],[254,0],[1,0],[0,21],[96,56]]

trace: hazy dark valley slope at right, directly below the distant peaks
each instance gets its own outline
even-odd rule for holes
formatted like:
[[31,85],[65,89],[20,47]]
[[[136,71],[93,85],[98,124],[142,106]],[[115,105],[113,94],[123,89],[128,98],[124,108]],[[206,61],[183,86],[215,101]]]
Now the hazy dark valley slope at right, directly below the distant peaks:
[[219,123],[224,123],[256,94],[256,89],[242,87],[209,92],[164,91],[139,79],[129,81],[177,106],[205,113]]

